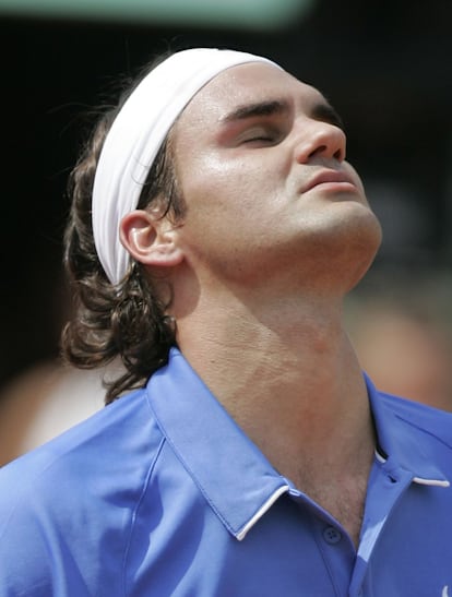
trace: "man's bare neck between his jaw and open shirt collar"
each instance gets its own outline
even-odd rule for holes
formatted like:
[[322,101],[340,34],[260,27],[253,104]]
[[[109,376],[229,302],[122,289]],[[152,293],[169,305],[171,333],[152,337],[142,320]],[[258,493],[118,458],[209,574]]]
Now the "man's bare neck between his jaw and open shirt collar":
[[357,453],[370,462],[371,417],[341,301],[221,303],[201,298],[178,321],[179,346],[279,473],[296,481],[309,463],[340,473]]

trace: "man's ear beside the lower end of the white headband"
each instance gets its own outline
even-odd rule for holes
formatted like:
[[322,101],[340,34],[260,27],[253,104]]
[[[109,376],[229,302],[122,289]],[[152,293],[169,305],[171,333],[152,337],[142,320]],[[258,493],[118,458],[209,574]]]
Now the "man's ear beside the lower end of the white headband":
[[177,227],[157,213],[135,210],[120,223],[119,236],[132,258],[144,265],[173,267],[183,260]]

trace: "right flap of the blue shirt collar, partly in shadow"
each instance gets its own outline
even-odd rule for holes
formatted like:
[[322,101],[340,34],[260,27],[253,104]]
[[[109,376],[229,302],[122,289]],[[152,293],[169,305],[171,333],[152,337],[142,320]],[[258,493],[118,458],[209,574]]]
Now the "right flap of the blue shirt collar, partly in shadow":
[[449,487],[438,463],[435,425],[432,430],[428,428],[431,409],[424,405],[413,408],[411,402],[380,393],[367,375],[365,379],[378,438],[378,459],[393,470],[409,471],[419,485]]

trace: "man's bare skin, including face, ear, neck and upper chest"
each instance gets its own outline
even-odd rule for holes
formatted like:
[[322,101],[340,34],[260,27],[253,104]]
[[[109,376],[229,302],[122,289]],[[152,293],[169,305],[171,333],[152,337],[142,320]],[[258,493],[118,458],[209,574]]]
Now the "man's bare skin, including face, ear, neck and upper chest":
[[224,71],[176,124],[183,222],[136,211],[121,239],[167,275],[179,346],[217,399],[357,545],[374,437],[342,302],[381,230],[338,124],[283,70]]

